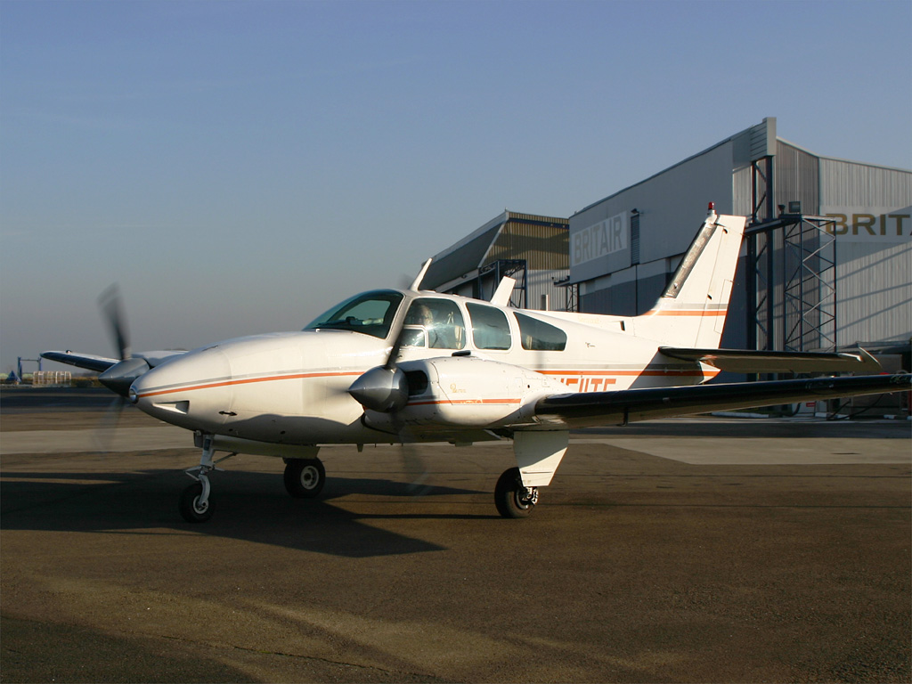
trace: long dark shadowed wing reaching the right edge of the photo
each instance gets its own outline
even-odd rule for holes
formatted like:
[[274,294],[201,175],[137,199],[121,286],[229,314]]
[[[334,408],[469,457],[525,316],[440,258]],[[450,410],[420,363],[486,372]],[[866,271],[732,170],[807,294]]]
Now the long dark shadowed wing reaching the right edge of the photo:
[[716,410],[750,409],[797,401],[885,394],[912,388],[912,375],[737,382],[690,387],[555,394],[535,404],[544,426],[586,428],[673,418]]

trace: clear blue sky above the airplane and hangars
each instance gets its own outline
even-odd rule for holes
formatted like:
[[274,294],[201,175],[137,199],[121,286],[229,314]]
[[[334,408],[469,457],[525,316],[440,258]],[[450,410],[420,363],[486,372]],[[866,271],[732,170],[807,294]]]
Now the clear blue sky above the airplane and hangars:
[[910,29],[908,0],[0,0],[0,370],[114,356],[113,282],[135,350],[299,329],[764,117],[910,168]]

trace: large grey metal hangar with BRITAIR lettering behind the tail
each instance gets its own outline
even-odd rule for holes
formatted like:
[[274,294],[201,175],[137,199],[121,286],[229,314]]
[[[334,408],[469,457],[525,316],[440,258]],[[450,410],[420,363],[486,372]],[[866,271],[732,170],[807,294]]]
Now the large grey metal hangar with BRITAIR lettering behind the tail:
[[570,217],[579,310],[648,310],[707,202],[749,217],[723,347],[907,354],[912,171],[804,150],[774,118]]

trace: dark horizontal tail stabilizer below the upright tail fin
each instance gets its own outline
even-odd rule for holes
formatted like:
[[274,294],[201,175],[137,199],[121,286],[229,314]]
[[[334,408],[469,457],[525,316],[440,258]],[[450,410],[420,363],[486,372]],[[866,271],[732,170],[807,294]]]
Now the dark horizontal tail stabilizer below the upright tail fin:
[[864,349],[857,352],[755,351],[658,347],[667,357],[700,361],[732,373],[877,373],[880,364]]

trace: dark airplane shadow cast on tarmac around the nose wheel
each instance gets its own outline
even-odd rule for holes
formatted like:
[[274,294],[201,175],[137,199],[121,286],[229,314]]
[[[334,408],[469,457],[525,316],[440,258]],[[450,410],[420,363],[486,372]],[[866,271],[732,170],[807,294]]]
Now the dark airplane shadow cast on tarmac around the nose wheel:
[[[5,472],[0,483],[0,529],[53,532],[142,533],[144,530],[192,531],[259,544],[275,544],[318,554],[363,558],[441,551],[444,547],[362,523],[369,519],[471,518],[495,515],[403,513],[400,499],[415,498],[407,482],[329,477],[323,496],[293,499],[281,475],[232,471],[213,477],[212,520],[184,523],[177,510],[186,483],[171,470],[145,472]],[[424,499],[479,493],[450,487],[424,487]],[[347,494],[378,496],[389,513],[352,513],[332,499]],[[359,503],[360,506],[360,503]]]

